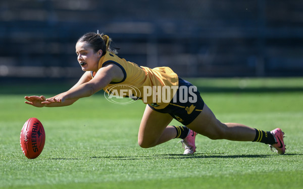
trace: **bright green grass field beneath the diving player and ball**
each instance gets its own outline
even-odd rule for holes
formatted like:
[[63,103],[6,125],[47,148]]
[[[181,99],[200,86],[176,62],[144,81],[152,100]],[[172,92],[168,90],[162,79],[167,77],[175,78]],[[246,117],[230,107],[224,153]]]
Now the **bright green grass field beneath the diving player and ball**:
[[[24,103],[25,95],[50,97],[68,85],[3,84],[0,188],[303,187],[303,78],[188,81],[221,121],[267,131],[280,127],[287,136],[286,154],[261,143],[201,135],[194,155],[181,155],[178,139],[142,149],[137,145],[142,102],[113,104],[100,91],[69,107],[35,108]],[[30,117],[37,117],[46,132],[36,159],[27,159],[19,143]]]

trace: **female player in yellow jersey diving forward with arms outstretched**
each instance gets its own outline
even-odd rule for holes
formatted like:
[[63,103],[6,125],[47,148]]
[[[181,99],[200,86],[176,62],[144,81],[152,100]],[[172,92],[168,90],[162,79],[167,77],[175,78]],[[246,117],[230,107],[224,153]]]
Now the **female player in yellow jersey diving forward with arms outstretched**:
[[[142,148],[180,138],[185,148],[184,154],[193,154],[196,149],[195,136],[200,134],[213,140],[261,142],[269,144],[278,154],[285,153],[281,129],[266,132],[239,123],[222,123],[204,103],[196,88],[179,78],[170,68],[137,66],[118,57],[110,43],[111,38],[103,34],[87,33],[80,37],[76,43],[76,53],[85,72],[79,81],[70,90],[51,98],[26,96],[25,103],[35,107],[68,106],[102,89],[112,93],[111,87],[123,84],[137,88],[140,95],[132,98],[141,99],[147,104],[138,133],[138,144]],[[119,90],[122,88],[116,89],[121,94]],[[162,99],[161,89],[166,93]],[[154,94],[150,95],[150,92]],[[134,94],[123,96],[131,95]],[[173,118],[185,126],[169,125]]]

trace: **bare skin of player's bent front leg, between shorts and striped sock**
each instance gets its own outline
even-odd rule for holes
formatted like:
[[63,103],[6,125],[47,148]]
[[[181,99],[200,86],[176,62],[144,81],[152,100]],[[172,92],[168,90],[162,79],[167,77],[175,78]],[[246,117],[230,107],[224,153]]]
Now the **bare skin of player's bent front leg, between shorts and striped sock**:
[[160,113],[146,105],[138,133],[138,144],[150,148],[176,137],[176,129],[168,124],[172,121],[168,113]]

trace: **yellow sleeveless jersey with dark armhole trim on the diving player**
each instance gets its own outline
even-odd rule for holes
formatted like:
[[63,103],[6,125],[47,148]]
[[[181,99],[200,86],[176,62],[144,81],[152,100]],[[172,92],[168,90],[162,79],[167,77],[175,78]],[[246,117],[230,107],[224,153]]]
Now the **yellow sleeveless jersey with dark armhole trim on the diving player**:
[[[111,82],[104,88],[109,94],[115,90],[119,96],[140,99],[156,109],[163,109],[173,99],[178,88],[178,76],[169,67],[140,67],[109,51],[100,58],[98,69],[107,64],[119,66],[124,73],[121,82]],[[125,90],[132,92],[127,94]]]

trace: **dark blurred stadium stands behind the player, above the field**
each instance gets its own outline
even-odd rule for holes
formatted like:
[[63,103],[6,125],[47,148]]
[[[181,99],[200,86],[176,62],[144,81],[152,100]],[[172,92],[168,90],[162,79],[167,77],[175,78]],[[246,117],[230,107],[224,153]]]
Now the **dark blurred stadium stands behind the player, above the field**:
[[87,32],[181,77],[303,76],[303,1],[2,0],[0,82],[74,80]]

